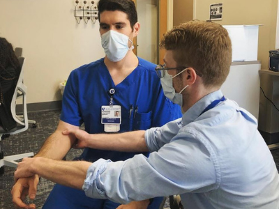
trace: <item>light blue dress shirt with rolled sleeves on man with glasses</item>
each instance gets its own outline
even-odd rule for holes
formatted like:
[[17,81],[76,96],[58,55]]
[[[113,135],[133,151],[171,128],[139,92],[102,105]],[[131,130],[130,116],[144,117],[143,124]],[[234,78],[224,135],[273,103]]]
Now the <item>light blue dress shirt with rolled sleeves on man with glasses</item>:
[[279,208],[278,171],[256,118],[228,99],[201,114],[222,97],[210,93],[183,118],[147,130],[148,158],[94,162],[86,195],[128,203],[180,194],[191,209]]

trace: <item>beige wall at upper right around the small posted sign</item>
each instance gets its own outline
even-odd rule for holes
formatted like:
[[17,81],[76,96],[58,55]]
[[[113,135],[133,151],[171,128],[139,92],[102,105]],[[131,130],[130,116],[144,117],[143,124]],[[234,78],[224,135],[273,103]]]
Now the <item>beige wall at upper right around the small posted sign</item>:
[[263,24],[259,26],[258,60],[262,69],[267,69],[269,50],[276,48],[278,0],[195,0],[197,20],[209,20],[211,3],[223,3],[223,20],[216,21],[219,24]]

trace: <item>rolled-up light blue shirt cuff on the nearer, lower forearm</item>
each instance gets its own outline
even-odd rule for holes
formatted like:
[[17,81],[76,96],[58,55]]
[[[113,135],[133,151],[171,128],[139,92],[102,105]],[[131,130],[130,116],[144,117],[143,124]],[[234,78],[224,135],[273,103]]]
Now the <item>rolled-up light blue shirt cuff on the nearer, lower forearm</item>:
[[86,196],[95,199],[107,199],[105,190],[100,188],[100,174],[105,171],[107,164],[111,160],[99,159],[96,162],[93,162],[86,173],[86,178],[82,189],[84,190]]

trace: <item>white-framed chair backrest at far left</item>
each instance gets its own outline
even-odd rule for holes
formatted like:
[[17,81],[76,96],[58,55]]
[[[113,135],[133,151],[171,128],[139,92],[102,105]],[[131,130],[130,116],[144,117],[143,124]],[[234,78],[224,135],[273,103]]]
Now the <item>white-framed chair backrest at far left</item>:
[[[15,132],[11,132],[10,134],[17,134],[19,132],[24,132],[28,129],[28,116],[27,116],[27,100],[26,100],[26,93],[27,93],[27,86],[23,84],[23,77],[24,77],[24,61],[25,58],[20,56],[18,58],[18,61],[20,62],[21,70],[20,70],[20,76],[17,80],[17,86],[15,86],[15,92],[13,93],[13,99],[10,104],[10,111],[12,112],[13,119],[20,124],[21,127],[17,128]],[[17,97],[20,95],[20,98],[22,98],[22,115],[23,120],[20,120],[17,118],[16,114],[16,104],[17,104]]]

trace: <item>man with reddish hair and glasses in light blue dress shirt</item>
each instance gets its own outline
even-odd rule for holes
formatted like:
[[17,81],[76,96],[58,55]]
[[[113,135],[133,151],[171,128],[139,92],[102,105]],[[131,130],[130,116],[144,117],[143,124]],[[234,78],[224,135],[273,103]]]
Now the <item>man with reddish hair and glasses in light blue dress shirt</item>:
[[15,178],[37,173],[119,203],[146,199],[147,205],[154,196],[180,194],[183,207],[191,209],[279,208],[278,171],[256,118],[220,91],[232,61],[227,31],[191,21],[166,33],[160,46],[165,65],[156,70],[167,98],[185,111],[182,118],[122,134],[63,132],[87,147],[149,151],[149,157],[93,163],[27,158]]

